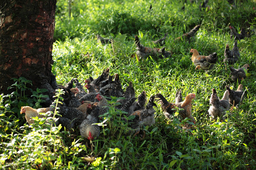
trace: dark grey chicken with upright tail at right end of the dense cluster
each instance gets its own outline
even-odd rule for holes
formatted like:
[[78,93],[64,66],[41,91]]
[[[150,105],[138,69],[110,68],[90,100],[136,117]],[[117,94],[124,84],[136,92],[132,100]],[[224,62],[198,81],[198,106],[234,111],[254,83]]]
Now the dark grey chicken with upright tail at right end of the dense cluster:
[[[153,124],[155,124],[155,109],[153,108],[153,106],[157,107],[155,102],[154,102],[155,96],[151,96],[148,100],[148,103],[146,105],[146,109],[144,110],[137,110],[134,111],[131,115],[135,116],[134,119],[131,120],[131,124],[130,126],[133,129],[136,129],[136,133],[134,136],[136,136],[139,131],[140,128],[145,125],[145,126],[152,126]],[[145,132],[144,132],[144,136],[145,136]],[[143,136],[143,138],[144,138]]]

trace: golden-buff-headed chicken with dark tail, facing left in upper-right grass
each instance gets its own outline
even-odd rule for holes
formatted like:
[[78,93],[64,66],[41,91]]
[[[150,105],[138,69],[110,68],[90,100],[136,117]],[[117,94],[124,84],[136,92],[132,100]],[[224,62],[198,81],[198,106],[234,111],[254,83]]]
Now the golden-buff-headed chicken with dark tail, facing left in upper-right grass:
[[194,65],[196,66],[195,69],[201,68],[205,72],[207,72],[208,70],[212,70],[218,60],[218,56],[217,56],[216,52],[213,52],[209,56],[199,55],[199,53],[196,49],[191,49],[190,52],[193,53],[191,59],[192,59],[192,62],[194,63]]

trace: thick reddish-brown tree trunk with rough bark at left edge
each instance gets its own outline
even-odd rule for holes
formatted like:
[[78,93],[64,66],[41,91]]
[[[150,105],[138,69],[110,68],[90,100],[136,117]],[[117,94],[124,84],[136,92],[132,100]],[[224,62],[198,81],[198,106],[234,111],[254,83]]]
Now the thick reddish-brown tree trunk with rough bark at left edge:
[[51,81],[56,0],[0,0],[0,94],[20,76]]

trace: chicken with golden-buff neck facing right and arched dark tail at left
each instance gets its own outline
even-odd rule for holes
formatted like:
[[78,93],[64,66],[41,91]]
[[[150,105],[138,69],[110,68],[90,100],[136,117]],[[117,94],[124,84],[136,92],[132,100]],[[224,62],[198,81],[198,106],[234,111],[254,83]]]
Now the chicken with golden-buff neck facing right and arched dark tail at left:
[[189,93],[183,102],[178,102],[176,104],[168,102],[161,93],[156,94],[155,98],[159,98],[162,110],[167,119],[171,119],[173,114],[177,111],[177,108],[179,108],[181,110],[178,110],[178,112],[182,119],[189,118],[191,119],[190,121],[195,123],[195,119],[192,117],[192,99],[195,98],[194,93]]

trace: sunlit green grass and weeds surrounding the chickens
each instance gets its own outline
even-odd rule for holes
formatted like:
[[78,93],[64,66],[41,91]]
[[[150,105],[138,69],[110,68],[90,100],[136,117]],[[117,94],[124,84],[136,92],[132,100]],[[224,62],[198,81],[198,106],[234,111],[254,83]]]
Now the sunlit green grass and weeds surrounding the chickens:
[[[221,98],[225,86],[237,89],[238,83],[229,76],[230,70],[222,62],[226,44],[233,46],[229,24],[237,30],[256,28],[256,2],[236,0],[235,7],[225,0],[209,2],[210,8],[200,10],[200,1],[194,0],[58,0],[53,48],[53,73],[57,82],[65,84],[76,77],[80,82],[98,77],[104,68],[110,74],[118,73],[124,89],[132,81],[136,95],[146,91],[162,93],[174,102],[175,93],[183,96],[195,93],[192,115],[196,123],[185,129],[186,121],[177,117],[165,119],[158,105],[155,125],[144,127],[133,137],[127,124],[118,121],[119,113],[110,111],[107,126],[86,146],[77,129],[63,131],[60,127],[45,127],[44,119],[28,126],[20,107],[40,107],[42,90],[28,96],[26,79],[14,80],[16,92],[0,95],[0,168],[1,169],[157,169],[157,170],[253,170],[256,169],[256,34],[247,33],[238,42],[240,58],[232,65],[238,68],[248,63],[248,76],[241,84],[246,97],[238,108],[227,111],[223,119],[213,120],[207,110],[215,88]],[[149,11],[149,7],[152,9]],[[184,10],[182,7],[184,6]],[[255,8],[254,8],[255,7]],[[69,15],[70,13],[70,15]],[[195,38],[174,41],[178,36],[201,24]],[[134,35],[149,47],[152,41],[168,32],[166,50],[171,58],[131,58],[136,51]],[[101,45],[96,35],[113,38],[111,44]],[[195,70],[190,49],[200,54],[217,52],[218,62],[211,73]],[[83,85],[83,84],[82,84]]]

